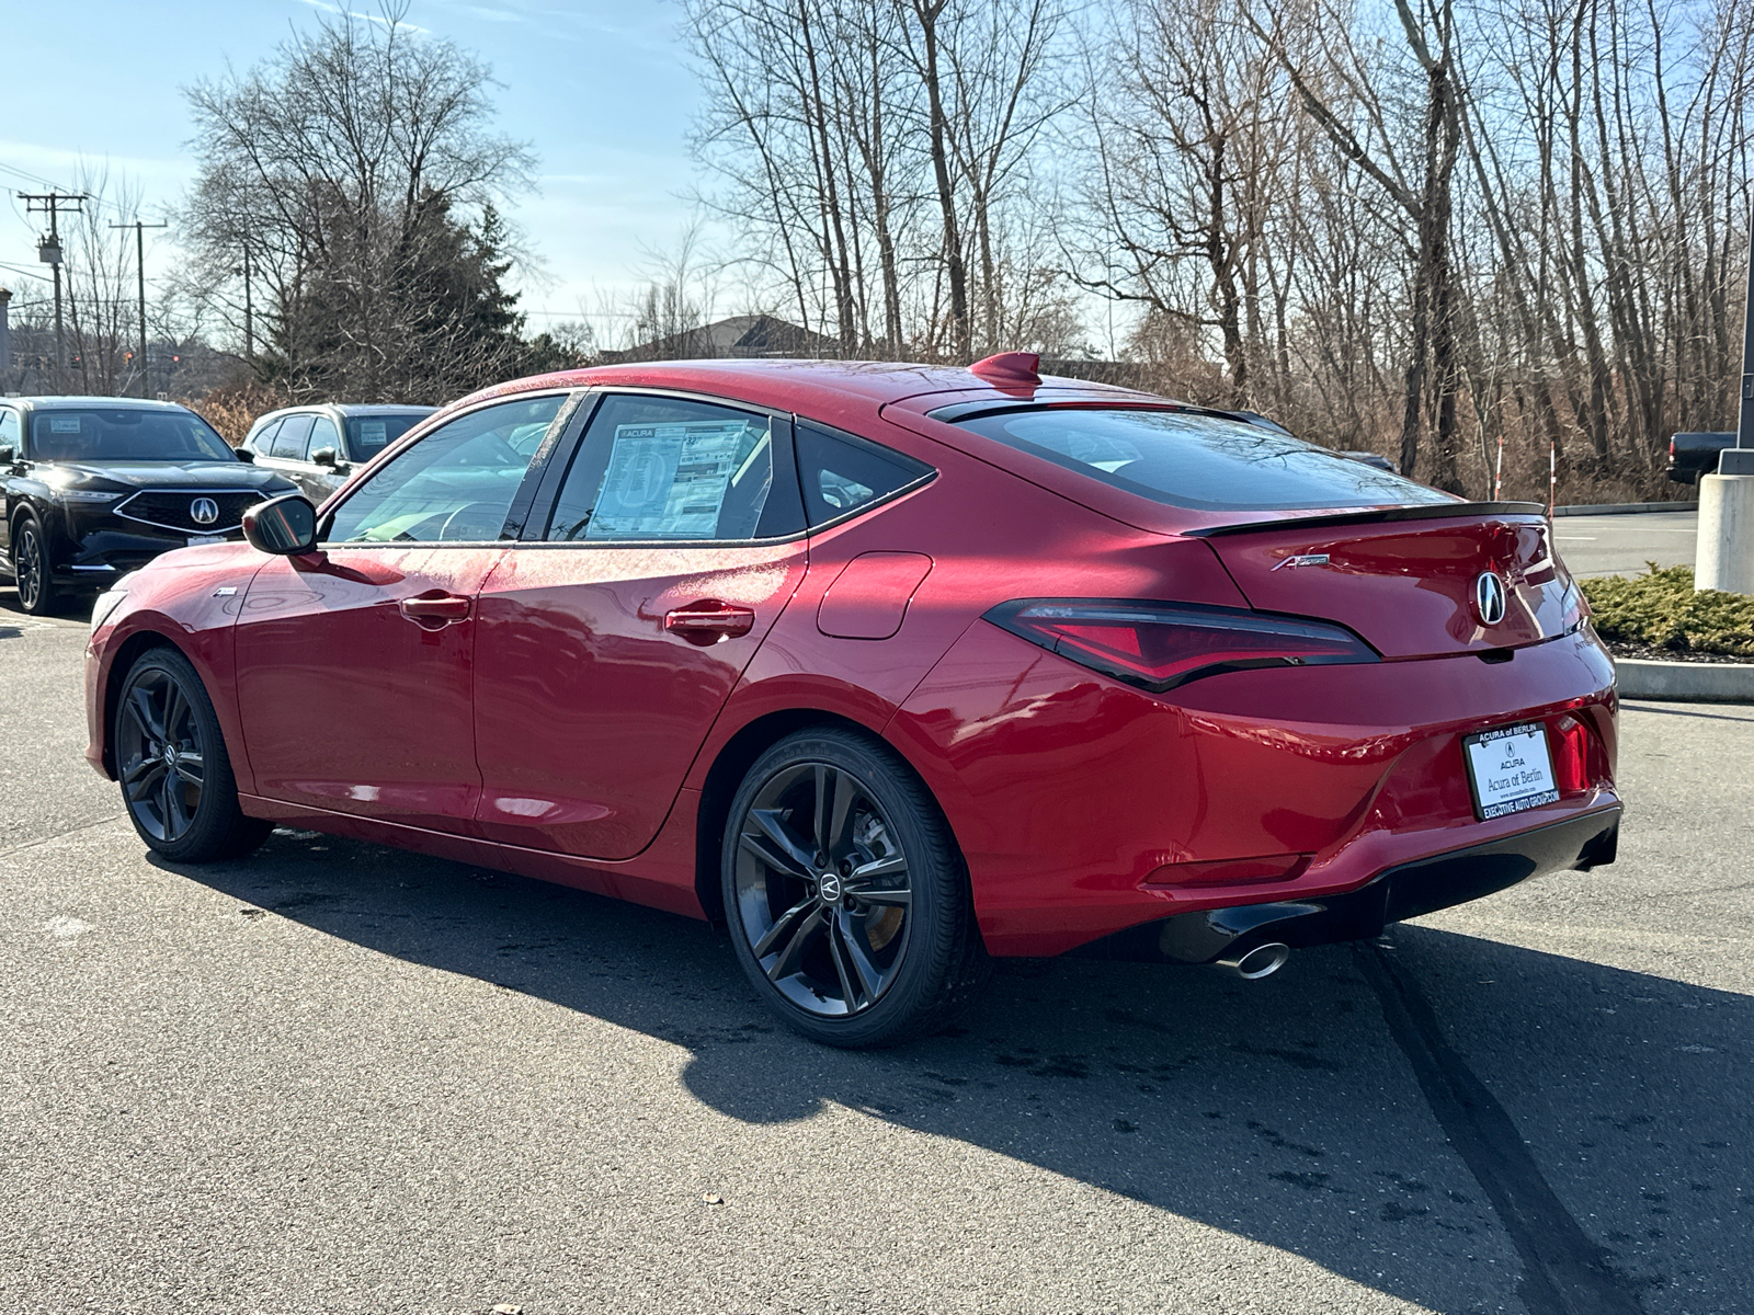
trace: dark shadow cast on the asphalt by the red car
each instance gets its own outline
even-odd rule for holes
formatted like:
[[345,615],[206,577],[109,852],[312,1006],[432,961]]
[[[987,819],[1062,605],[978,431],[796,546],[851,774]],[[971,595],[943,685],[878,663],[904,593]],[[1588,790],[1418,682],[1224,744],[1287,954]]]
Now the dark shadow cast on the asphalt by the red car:
[[[775,1022],[723,933],[689,919],[314,833],[175,871],[251,917],[686,1047],[682,1084],[731,1119],[859,1110],[1431,1310],[1498,1310],[1517,1287],[1517,1250],[1361,971],[1377,950],[1307,950],[1254,984],[1009,961],[951,1034],[838,1052]],[[1614,1282],[1649,1310],[1754,1308],[1736,1261],[1754,1217],[1754,1001],[1430,928],[1389,942]],[[1145,1247],[1140,1264],[1177,1259]]]

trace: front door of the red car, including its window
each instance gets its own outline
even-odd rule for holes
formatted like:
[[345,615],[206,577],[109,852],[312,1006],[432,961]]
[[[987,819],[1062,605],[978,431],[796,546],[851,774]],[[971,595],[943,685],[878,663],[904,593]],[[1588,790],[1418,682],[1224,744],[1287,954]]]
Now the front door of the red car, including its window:
[[467,826],[481,796],[475,594],[521,524],[568,396],[458,416],[351,489],[317,552],[256,573],[237,689],[261,794]]

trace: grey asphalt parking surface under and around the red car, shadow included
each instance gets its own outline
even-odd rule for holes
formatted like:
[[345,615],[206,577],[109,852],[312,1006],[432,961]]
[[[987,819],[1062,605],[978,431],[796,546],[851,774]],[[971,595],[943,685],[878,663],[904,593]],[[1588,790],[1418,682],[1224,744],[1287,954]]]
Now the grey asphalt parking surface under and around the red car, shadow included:
[[1754,1310],[1754,708],[1626,708],[1612,868],[840,1054],[684,919],[149,859],[82,643],[0,591],[0,1310]]

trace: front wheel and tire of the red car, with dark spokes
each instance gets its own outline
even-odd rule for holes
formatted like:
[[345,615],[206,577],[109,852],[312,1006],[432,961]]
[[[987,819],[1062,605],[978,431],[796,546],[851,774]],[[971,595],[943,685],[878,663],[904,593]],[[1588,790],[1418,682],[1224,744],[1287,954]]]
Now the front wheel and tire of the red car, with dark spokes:
[[242,857],[274,829],[239,808],[219,717],[175,649],[149,649],[130,668],[111,743],[128,821],[172,863]]

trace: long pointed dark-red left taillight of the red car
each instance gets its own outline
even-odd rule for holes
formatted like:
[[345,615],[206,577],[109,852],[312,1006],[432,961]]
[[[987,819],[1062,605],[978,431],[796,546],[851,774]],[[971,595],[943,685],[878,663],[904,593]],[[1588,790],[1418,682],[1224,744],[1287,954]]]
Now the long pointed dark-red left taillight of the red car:
[[1345,626],[1231,607],[1035,598],[1002,603],[986,619],[1158,694],[1256,666],[1379,661],[1377,650]]

